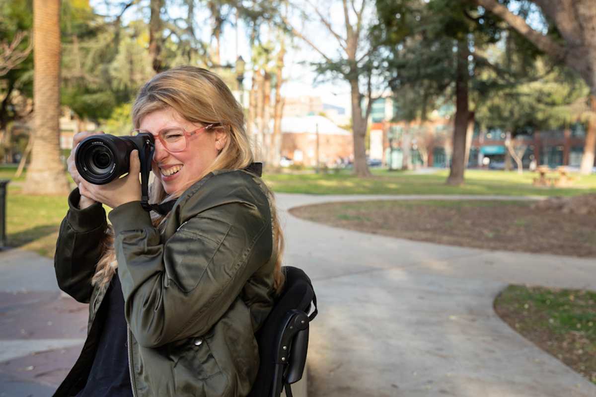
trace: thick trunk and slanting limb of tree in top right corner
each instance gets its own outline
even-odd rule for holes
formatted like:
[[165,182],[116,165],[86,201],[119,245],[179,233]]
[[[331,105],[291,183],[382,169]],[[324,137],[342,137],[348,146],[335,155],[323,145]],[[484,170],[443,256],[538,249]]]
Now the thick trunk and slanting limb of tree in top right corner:
[[[511,12],[507,3],[475,0],[478,5],[503,18],[511,27],[544,51],[553,60],[566,64],[585,80],[590,88],[592,112],[596,112],[596,7],[594,0],[531,0],[541,8],[556,33],[544,35],[532,29],[524,18]],[[563,42],[558,40],[558,37]],[[594,166],[596,120],[589,122],[583,149],[581,173]]]

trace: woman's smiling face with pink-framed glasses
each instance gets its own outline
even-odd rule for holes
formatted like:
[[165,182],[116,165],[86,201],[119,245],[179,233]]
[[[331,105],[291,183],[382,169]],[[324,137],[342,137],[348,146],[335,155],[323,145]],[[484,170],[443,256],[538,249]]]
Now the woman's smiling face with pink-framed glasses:
[[187,138],[186,150],[175,153],[165,150],[157,134],[164,128],[179,127],[190,132],[201,126],[203,125],[200,123],[183,119],[172,108],[156,110],[142,118],[139,129],[151,132],[156,138],[151,167],[156,178],[162,181],[167,194],[182,193],[201,178],[223,147],[225,134],[221,129],[198,131]]

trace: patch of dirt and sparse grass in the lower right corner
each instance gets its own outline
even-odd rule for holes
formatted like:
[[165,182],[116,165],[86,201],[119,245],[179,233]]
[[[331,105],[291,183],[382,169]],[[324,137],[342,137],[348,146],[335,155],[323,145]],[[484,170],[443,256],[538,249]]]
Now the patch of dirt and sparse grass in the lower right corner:
[[514,330],[596,383],[596,292],[509,286],[495,311]]

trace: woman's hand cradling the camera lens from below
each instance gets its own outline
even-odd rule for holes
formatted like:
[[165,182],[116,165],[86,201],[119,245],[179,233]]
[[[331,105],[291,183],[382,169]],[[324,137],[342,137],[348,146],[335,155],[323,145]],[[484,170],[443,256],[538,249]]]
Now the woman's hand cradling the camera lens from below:
[[81,196],[104,203],[108,207],[116,208],[131,201],[141,200],[141,162],[138,150],[131,151],[131,169],[128,175],[115,179],[105,185],[94,185],[80,178],[79,191]]

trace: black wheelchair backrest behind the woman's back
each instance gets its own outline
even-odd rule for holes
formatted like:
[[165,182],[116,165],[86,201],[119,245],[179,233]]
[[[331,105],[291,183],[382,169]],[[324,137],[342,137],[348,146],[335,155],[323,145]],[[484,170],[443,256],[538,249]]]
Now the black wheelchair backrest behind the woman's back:
[[259,372],[249,397],[292,397],[290,384],[302,379],[308,350],[309,322],[318,313],[311,279],[302,269],[283,266],[284,289],[256,339]]

